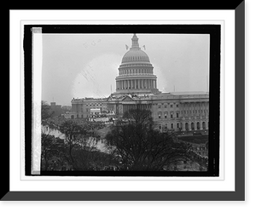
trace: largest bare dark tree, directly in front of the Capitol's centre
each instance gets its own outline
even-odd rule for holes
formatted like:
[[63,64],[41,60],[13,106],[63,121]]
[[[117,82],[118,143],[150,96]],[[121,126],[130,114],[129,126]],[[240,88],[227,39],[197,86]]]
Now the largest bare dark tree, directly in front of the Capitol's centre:
[[131,110],[129,117],[129,123],[117,123],[106,135],[121,169],[163,170],[178,158],[186,157],[186,145],[154,129],[150,111]]

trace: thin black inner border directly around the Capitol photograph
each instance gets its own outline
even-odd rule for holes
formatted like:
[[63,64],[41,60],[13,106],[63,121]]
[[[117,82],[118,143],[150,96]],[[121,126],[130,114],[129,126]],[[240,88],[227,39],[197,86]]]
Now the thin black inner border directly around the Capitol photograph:
[[[25,50],[25,111],[26,117],[26,175],[31,174],[31,91],[32,91],[32,28],[42,27],[42,33],[153,33],[161,34],[209,34],[210,35],[210,115],[209,115],[209,169],[208,171],[175,172],[107,172],[107,171],[42,171],[40,175],[74,175],[74,176],[218,176],[219,175],[219,97],[220,97],[220,25],[27,25],[24,33]],[[30,57],[30,58],[29,58]],[[27,107],[30,107],[26,110]],[[35,175],[38,176],[38,175]]]

